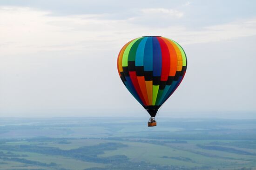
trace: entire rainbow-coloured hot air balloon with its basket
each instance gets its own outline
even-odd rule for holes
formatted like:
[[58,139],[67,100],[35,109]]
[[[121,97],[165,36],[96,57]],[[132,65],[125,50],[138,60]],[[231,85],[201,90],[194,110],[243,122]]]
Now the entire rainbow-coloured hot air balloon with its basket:
[[158,109],[185,76],[187,57],[171,39],[143,36],[122,47],[117,69],[125,87],[150,114],[148,126],[156,126]]

